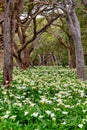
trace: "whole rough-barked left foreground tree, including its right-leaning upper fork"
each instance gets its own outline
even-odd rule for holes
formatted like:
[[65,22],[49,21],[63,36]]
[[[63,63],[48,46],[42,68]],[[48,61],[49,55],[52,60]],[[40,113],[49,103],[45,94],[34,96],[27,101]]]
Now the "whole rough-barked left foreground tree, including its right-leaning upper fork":
[[3,67],[3,85],[10,86],[13,74],[13,38],[15,34],[15,18],[20,13],[20,7],[23,0],[6,0],[4,7],[4,67]]

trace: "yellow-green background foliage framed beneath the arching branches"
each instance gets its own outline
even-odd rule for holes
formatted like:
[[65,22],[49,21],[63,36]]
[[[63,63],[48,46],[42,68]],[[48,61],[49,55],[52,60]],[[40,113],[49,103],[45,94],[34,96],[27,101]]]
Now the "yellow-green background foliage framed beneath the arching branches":
[[[68,65],[67,49],[61,45],[58,39],[52,34],[45,32],[43,35],[41,35],[40,40],[38,41],[38,45],[35,47],[34,51],[31,54],[31,61],[33,61],[33,59],[36,59],[37,61],[37,64],[35,65],[39,64],[38,54],[44,56],[45,59],[49,57],[50,54],[53,54],[61,62],[61,65]],[[53,62],[50,63],[50,65],[54,64],[55,63]]]

